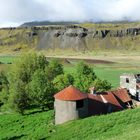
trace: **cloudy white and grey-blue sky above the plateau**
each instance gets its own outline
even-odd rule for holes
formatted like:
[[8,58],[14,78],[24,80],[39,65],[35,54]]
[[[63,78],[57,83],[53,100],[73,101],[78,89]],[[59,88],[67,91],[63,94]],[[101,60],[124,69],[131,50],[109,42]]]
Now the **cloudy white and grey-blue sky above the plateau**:
[[0,27],[27,21],[140,20],[140,0],[0,0]]

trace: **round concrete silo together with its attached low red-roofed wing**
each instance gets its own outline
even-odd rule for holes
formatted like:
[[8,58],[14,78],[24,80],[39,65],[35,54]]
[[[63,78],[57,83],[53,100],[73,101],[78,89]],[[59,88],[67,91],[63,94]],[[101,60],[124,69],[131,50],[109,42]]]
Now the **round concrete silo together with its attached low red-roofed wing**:
[[126,89],[110,92],[96,92],[94,88],[90,90],[91,93],[85,94],[69,86],[55,94],[55,124],[120,111],[132,106]]

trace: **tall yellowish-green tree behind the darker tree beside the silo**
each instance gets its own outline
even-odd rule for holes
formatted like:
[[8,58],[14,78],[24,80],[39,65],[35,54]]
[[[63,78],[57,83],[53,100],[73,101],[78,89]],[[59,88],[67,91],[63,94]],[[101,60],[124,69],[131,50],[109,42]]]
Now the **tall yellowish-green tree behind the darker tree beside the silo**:
[[9,100],[8,104],[20,113],[24,113],[30,105],[30,91],[28,85],[32,81],[35,71],[41,69],[45,71],[48,66],[45,56],[37,54],[27,54],[18,58],[13,64],[9,74]]

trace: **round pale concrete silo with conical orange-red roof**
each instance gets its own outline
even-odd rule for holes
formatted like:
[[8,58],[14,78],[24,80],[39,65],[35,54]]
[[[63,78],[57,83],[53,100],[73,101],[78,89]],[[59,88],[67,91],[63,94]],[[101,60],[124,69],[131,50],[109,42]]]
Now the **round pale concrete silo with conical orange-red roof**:
[[55,96],[55,124],[88,116],[87,95],[69,86]]

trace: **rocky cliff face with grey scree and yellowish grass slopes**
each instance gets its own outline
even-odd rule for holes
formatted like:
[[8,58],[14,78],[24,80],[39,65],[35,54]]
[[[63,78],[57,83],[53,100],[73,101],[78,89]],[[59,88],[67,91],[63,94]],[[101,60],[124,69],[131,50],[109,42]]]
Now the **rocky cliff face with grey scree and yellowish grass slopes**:
[[80,26],[50,26],[0,29],[0,47],[36,49],[138,49],[140,28],[120,30],[82,28]]

